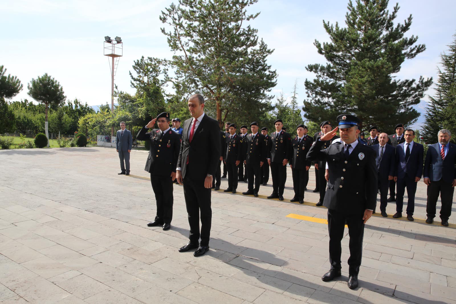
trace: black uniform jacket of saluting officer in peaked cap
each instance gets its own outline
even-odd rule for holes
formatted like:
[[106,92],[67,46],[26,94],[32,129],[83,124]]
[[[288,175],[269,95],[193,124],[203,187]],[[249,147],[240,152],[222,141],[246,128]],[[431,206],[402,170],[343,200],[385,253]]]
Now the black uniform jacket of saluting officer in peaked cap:
[[323,205],[345,214],[373,210],[378,186],[375,152],[358,142],[346,159],[342,142],[334,142],[326,149],[323,145],[324,142],[316,141],[307,153],[311,160],[328,163],[329,180]]

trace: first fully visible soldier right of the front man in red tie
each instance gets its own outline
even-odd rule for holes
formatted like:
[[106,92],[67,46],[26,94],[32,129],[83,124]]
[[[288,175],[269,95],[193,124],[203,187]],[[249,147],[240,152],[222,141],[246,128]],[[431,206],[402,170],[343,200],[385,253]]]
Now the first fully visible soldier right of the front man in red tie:
[[242,138],[236,134],[236,125],[229,125],[230,135],[227,139],[227,148],[225,150],[225,164],[228,171],[228,188],[223,190],[223,192],[232,192],[236,193],[238,188],[238,166],[242,162],[243,147],[242,147]]

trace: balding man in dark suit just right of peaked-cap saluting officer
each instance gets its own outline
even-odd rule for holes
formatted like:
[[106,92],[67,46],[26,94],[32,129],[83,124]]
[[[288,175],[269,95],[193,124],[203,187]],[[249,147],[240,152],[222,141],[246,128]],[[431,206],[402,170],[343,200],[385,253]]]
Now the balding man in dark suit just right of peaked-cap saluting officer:
[[378,171],[378,189],[380,189],[380,213],[383,217],[388,217],[386,205],[388,204],[389,182],[394,177],[395,149],[388,145],[388,134],[380,133],[378,143],[372,147],[375,152],[375,163]]

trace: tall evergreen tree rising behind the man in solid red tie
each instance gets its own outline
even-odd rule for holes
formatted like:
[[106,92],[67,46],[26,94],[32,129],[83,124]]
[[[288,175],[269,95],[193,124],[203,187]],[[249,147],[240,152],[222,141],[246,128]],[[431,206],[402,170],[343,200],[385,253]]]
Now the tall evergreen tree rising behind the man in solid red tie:
[[273,51],[257,30],[247,25],[259,13],[247,14],[247,6],[258,0],[179,0],[162,11],[162,28],[175,53],[170,64],[176,77],[170,79],[182,100],[200,93],[205,110],[238,123],[267,119],[273,109],[268,95],[277,74],[266,58]]

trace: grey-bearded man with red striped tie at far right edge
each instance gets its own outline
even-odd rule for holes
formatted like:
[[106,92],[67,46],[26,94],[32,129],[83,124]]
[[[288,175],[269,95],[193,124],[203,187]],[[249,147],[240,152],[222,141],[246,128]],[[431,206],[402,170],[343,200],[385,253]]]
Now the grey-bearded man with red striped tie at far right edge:
[[437,199],[442,201],[440,219],[443,226],[448,226],[456,186],[456,145],[450,143],[451,132],[442,129],[438,133],[439,142],[429,145],[424,170],[424,182],[427,187],[426,223],[432,224],[435,217]]

